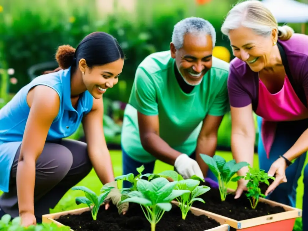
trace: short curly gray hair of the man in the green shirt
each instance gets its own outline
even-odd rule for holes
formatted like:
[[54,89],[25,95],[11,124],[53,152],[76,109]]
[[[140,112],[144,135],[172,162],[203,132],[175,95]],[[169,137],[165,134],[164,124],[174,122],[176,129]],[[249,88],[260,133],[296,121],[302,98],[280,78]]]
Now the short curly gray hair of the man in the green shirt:
[[210,35],[213,41],[213,48],[215,47],[216,31],[209,21],[203,18],[189,17],[176,23],[172,33],[172,43],[177,50],[183,47],[184,35],[188,33]]

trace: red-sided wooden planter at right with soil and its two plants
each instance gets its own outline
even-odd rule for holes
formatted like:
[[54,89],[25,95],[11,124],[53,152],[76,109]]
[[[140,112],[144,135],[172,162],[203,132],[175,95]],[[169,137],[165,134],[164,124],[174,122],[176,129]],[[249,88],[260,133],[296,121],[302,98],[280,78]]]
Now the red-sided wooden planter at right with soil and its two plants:
[[[235,160],[226,162],[222,157],[214,156],[212,158],[204,154],[200,155],[213,174],[216,176],[219,174],[221,176],[228,175],[228,177],[222,177],[224,183],[218,184],[217,188],[212,187],[206,195],[201,195],[200,197],[205,203],[196,201],[193,208],[201,209],[208,217],[217,218],[219,215],[218,221],[221,224],[228,224],[235,230],[293,230],[295,219],[302,216],[302,210],[263,198],[265,197],[263,193],[266,190],[263,186],[267,187],[274,179],[273,177],[269,177],[264,170],[249,166],[249,172],[245,176],[245,179],[249,180],[248,191],[244,192],[240,198],[234,199],[235,191],[228,188],[228,193],[222,200],[221,185],[225,187],[230,176],[237,172],[239,167],[237,167]],[[203,184],[209,185],[208,182]]]

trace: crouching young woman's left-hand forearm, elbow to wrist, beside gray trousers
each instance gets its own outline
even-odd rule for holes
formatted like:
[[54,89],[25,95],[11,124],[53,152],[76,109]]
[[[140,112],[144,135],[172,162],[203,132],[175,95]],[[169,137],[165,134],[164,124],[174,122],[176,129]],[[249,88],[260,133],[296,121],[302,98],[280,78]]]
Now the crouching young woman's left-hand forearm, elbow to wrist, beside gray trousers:
[[16,186],[19,214],[34,214],[35,160],[20,160],[17,166]]

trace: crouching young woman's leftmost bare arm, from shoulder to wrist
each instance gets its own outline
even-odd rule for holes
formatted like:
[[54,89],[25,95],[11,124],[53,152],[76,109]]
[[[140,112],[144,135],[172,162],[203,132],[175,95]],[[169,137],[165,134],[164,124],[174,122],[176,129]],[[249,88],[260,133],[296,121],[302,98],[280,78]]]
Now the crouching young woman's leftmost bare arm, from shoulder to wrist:
[[60,99],[55,90],[39,85],[27,96],[30,107],[17,166],[19,214],[34,214],[35,163],[42,153],[52,121],[59,113]]

